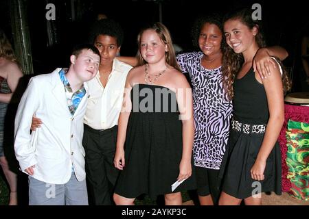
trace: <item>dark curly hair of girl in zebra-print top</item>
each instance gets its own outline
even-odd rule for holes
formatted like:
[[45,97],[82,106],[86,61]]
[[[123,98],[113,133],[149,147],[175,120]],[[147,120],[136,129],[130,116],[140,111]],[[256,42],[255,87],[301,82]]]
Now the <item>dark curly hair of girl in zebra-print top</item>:
[[198,38],[201,33],[201,29],[205,23],[214,24],[217,27],[219,27],[221,33],[222,33],[222,41],[221,41],[221,49],[224,51],[224,49],[227,47],[225,43],[225,38],[223,37],[223,23],[222,23],[222,16],[217,13],[211,13],[203,16],[198,16],[196,20],[194,21],[192,30],[191,30],[191,37],[192,37],[192,43],[193,46],[198,48]]

